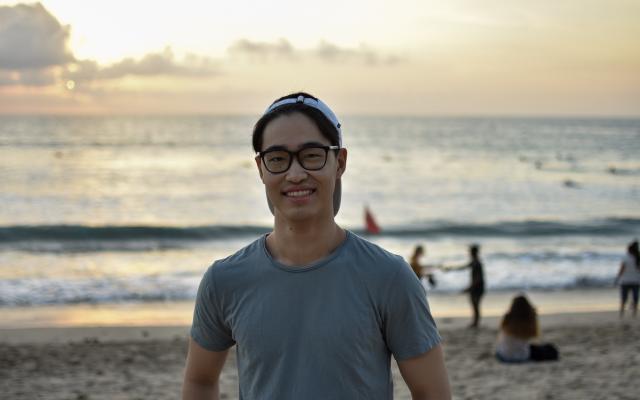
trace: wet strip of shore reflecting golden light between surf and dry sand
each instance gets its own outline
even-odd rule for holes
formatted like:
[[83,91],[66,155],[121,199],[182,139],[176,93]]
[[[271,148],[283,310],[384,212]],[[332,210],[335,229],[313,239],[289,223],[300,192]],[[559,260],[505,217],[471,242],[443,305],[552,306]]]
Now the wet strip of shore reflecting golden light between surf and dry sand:
[[[500,317],[511,299],[525,293],[539,315],[617,311],[619,293],[610,289],[488,292],[483,318]],[[460,293],[433,293],[427,297],[434,318],[470,318],[468,298]],[[70,304],[0,308],[0,330],[32,328],[188,326],[194,302]]]

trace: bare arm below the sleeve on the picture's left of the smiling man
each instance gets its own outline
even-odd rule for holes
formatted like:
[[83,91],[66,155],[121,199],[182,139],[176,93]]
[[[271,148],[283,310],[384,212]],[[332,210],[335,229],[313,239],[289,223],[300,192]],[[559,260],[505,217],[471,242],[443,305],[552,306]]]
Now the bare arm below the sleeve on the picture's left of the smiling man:
[[209,351],[189,339],[182,400],[218,400],[220,372],[229,350]]

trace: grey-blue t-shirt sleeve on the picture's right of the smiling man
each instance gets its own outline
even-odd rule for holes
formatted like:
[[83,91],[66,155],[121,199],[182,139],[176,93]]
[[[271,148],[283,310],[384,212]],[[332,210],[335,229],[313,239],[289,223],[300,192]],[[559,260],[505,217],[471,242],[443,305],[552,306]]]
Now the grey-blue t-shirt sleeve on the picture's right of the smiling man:
[[440,343],[427,294],[404,262],[387,289],[383,306],[387,347],[397,361],[419,356]]

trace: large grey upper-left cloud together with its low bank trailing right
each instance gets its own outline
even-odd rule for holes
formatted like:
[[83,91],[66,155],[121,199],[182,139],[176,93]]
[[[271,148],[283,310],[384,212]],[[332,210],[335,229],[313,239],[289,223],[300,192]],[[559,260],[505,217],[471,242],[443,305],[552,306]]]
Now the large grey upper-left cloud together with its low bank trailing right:
[[0,6],[0,86],[48,86],[67,80],[88,82],[125,76],[202,77],[218,72],[207,57],[187,54],[178,61],[170,48],[108,66],[78,60],[63,26],[42,4]]

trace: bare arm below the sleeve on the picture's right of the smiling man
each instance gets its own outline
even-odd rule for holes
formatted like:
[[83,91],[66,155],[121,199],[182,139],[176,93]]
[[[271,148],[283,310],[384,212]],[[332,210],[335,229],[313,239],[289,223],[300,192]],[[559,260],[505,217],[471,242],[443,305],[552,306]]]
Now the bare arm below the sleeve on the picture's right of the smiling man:
[[398,362],[398,368],[413,400],[451,400],[441,345],[417,357]]

